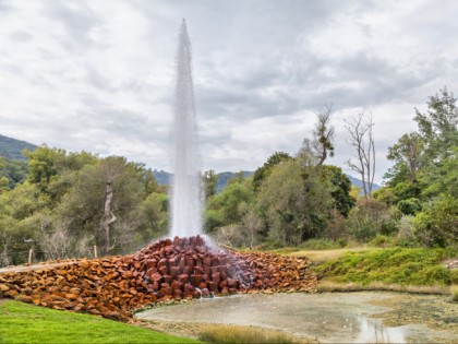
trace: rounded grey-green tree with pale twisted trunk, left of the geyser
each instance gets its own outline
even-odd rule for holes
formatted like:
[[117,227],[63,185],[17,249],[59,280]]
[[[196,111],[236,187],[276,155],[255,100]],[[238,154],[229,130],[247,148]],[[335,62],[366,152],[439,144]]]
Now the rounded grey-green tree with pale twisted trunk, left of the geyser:
[[57,213],[73,236],[91,235],[104,254],[132,244],[142,223],[137,210],[145,198],[142,175],[134,165],[109,156],[75,173],[71,185]]

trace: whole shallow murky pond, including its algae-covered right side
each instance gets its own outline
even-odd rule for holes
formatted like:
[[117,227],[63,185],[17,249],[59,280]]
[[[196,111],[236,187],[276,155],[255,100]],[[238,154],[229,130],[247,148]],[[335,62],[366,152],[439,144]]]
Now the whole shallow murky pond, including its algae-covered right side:
[[237,295],[157,307],[138,319],[255,325],[322,343],[455,343],[450,297],[394,293]]

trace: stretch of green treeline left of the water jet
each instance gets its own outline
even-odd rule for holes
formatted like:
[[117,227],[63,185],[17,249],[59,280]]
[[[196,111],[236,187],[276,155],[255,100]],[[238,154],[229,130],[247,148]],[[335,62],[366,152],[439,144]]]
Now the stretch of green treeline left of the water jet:
[[91,257],[94,245],[114,254],[166,233],[167,193],[144,165],[46,145],[23,153],[26,164],[3,158],[0,166],[2,265],[26,261],[29,248],[36,259]]

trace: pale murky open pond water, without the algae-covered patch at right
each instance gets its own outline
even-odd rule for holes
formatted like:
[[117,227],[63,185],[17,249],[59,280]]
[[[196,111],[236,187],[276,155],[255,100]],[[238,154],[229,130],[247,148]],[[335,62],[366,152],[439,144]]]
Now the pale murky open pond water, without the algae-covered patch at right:
[[437,332],[422,325],[383,325],[371,315],[388,308],[369,301],[388,293],[242,295],[201,299],[137,315],[141,319],[209,322],[279,329],[321,343],[427,343]]

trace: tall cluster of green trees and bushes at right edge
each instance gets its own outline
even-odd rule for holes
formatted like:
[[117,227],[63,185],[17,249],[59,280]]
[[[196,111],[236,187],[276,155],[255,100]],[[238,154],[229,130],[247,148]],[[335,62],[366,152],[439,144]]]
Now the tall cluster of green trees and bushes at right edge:
[[458,238],[458,108],[447,88],[432,96],[426,112],[415,109],[419,131],[402,135],[389,150],[397,164],[377,200],[415,215],[415,241],[453,246]]

